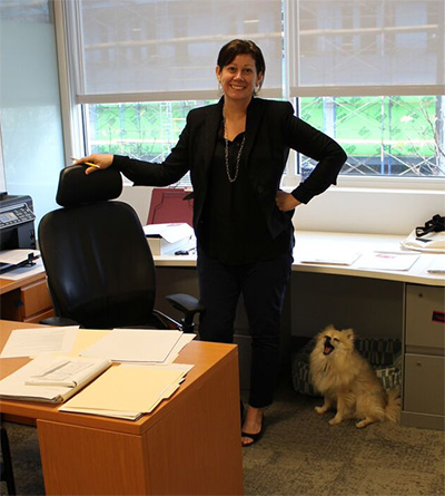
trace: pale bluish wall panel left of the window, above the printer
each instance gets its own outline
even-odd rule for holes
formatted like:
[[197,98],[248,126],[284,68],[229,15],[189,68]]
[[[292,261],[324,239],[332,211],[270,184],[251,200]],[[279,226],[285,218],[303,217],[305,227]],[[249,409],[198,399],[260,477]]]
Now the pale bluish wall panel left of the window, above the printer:
[[4,188],[32,197],[37,226],[57,208],[59,172],[66,165],[51,22],[0,21],[0,87]]

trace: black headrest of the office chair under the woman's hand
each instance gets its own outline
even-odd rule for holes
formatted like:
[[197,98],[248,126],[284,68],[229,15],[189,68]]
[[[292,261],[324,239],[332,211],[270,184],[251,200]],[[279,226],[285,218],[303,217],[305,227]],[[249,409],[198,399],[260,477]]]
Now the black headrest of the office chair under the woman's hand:
[[72,165],[60,171],[56,202],[60,206],[103,202],[117,198],[122,192],[119,171],[106,168],[88,176],[85,165]]

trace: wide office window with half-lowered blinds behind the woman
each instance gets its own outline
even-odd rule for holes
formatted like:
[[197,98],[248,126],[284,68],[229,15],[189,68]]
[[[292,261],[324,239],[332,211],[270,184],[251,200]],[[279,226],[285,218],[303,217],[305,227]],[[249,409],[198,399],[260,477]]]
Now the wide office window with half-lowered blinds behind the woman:
[[[65,3],[79,153],[162,161],[188,110],[218,98],[216,55],[240,37],[265,54],[260,96],[338,140],[343,176],[445,176],[442,0]],[[313,166],[289,161],[288,177]]]

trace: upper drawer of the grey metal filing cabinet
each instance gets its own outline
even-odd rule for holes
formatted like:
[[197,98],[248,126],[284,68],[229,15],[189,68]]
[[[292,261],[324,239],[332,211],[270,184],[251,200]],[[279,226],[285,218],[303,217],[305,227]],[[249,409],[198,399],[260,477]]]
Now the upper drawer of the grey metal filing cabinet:
[[445,289],[408,284],[406,346],[445,349]]

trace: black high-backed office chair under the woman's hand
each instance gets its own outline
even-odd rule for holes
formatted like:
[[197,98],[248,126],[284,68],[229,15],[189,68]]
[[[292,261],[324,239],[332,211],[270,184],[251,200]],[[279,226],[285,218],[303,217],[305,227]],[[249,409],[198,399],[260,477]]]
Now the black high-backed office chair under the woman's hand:
[[130,205],[110,201],[121,191],[118,171],[61,171],[56,201],[62,208],[46,214],[38,228],[57,315],[42,323],[192,332],[194,317],[204,310],[195,298],[166,296],[182,312],[180,322],[154,309],[155,264],[140,221]]

